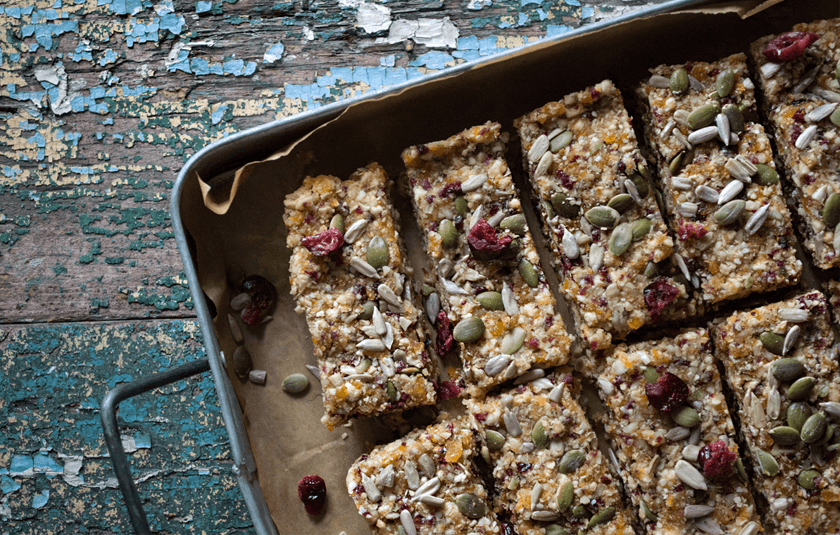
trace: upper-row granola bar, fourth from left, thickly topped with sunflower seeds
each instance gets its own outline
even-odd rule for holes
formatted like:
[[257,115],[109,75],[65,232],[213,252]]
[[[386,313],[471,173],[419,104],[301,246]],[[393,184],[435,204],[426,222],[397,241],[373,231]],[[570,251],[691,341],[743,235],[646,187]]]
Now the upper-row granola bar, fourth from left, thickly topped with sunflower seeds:
[[710,305],[795,284],[802,269],[745,60],[661,65],[638,89],[680,254]]

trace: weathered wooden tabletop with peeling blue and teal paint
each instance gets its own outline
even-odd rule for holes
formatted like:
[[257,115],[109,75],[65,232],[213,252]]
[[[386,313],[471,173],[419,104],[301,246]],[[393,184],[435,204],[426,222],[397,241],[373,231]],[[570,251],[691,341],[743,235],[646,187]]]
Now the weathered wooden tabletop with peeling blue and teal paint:
[[[662,2],[0,3],[0,531],[131,531],[99,405],[203,355],[169,214],[198,149]],[[252,531],[209,374],[120,422],[153,530]]]

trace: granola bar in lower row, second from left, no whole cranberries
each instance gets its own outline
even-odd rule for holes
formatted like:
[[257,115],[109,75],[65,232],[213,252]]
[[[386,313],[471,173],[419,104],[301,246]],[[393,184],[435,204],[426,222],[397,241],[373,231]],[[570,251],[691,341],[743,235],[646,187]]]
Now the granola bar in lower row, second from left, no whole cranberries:
[[519,535],[586,528],[590,534],[633,533],[618,484],[572,395],[579,391],[579,382],[561,369],[465,401],[493,470],[497,507]]

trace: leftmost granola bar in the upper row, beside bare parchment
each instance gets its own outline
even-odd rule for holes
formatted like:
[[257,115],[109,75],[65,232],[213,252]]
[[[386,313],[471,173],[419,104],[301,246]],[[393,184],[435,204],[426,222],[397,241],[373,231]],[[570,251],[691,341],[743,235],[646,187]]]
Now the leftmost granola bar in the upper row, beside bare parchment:
[[290,279],[306,313],[329,428],[355,416],[435,402],[437,364],[426,353],[411,298],[384,169],[348,180],[308,177],[285,200]]

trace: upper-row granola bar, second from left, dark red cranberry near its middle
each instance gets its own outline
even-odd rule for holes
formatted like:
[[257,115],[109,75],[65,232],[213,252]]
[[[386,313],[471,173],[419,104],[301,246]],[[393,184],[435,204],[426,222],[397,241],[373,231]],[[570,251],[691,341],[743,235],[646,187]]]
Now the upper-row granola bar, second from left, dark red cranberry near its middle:
[[505,161],[507,139],[488,122],[402,154],[436,268],[438,293],[427,312],[438,351],[460,344],[474,394],[569,358],[571,340]]

